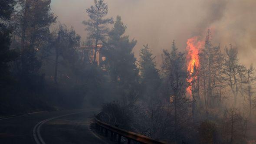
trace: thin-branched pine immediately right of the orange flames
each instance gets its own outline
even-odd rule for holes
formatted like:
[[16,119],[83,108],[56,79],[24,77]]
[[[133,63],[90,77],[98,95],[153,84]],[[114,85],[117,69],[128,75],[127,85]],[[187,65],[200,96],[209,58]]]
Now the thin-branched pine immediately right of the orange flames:
[[199,78],[203,85],[203,97],[206,108],[213,106],[217,99],[220,99],[221,91],[218,90],[221,81],[221,69],[223,55],[220,46],[212,46],[210,30],[207,32],[204,49],[200,53]]

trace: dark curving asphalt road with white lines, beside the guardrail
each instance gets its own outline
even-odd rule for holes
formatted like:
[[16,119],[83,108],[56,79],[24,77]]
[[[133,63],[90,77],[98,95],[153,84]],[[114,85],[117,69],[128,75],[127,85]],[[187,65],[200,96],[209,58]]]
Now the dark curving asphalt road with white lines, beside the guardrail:
[[89,129],[98,108],[0,119],[0,144],[104,144]]

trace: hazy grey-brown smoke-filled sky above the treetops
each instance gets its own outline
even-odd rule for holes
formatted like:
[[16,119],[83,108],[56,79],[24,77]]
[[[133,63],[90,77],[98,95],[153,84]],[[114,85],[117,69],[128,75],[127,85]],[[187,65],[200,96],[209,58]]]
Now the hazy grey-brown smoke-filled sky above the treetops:
[[[183,51],[187,39],[206,35],[213,28],[213,44],[222,49],[232,43],[239,49],[243,64],[256,61],[256,0],[105,0],[108,17],[120,15],[127,25],[126,35],[138,40],[135,56],[148,44],[157,61],[162,49],[170,49],[175,39]],[[93,0],[52,0],[52,10],[61,23],[73,26],[85,40],[83,20]],[[255,64],[256,65],[256,64]]]

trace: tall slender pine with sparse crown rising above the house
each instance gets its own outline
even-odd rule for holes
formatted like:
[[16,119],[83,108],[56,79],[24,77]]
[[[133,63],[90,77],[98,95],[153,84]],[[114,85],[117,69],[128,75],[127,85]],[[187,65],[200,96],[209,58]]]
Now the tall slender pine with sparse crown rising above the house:
[[93,57],[93,64],[95,64],[98,41],[104,42],[105,36],[108,33],[107,26],[113,23],[113,18],[104,18],[108,14],[108,5],[104,0],[94,0],[94,6],[86,9],[86,13],[90,19],[83,21],[83,24],[87,26],[85,30],[90,34],[89,39],[95,40]]

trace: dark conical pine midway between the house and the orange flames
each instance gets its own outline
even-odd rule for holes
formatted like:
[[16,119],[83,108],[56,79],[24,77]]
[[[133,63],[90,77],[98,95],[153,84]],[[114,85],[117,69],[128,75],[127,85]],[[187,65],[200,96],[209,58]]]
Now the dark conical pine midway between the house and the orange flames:
[[143,91],[142,95],[148,100],[157,97],[160,84],[160,77],[155,63],[155,56],[153,57],[148,45],[143,45],[143,48],[140,51],[139,66]]

